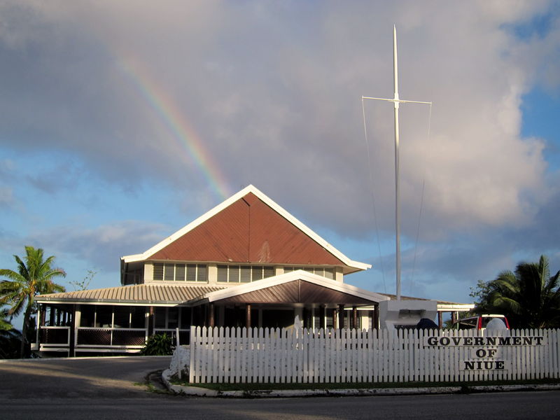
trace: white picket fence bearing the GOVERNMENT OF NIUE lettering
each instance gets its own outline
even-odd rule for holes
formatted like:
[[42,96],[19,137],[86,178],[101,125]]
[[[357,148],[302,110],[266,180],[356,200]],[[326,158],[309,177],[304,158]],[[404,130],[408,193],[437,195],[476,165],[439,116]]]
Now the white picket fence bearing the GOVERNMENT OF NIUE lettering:
[[190,383],[560,377],[560,330],[191,330]]

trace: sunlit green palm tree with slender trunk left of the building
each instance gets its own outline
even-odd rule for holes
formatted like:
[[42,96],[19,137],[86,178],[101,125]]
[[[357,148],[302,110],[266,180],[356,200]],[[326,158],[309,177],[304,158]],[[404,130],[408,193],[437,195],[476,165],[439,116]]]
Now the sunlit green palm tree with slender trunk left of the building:
[[18,271],[0,269],[0,276],[8,280],[0,281],[0,303],[10,305],[9,315],[17,316],[25,309],[22,327],[20,357],[25,356],[25,337],[29,327],[29,318],[34,310],[35,296],[43,293],[63,292],[63,286],[52,281],[56,277],[66,276],[61,268],[53,268],[54,256],[44,258],[43,249],[33,246],[25,247],[25,258],[14,255]]

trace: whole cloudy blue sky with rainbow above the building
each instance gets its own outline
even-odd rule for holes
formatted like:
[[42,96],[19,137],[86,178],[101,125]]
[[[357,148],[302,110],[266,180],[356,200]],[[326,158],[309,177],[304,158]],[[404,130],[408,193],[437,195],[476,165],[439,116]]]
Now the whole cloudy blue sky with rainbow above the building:
[[558,1],[0,1],[0,265],[90,288],[253,184],[395,293],[560,269]]

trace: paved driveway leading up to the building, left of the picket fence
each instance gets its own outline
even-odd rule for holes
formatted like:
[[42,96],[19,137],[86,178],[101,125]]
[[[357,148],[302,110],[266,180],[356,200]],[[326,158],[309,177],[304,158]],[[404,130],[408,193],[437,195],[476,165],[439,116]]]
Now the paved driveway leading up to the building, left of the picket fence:
[[1,398],[134,398],[146,374],[169,367],[171,356],[38,359],[0,363]]

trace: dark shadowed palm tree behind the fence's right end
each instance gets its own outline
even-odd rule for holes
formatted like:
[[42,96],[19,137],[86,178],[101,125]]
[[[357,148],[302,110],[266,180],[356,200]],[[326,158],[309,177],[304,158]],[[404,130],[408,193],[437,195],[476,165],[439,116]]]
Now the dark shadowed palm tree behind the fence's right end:
[[479,314],[503,314],[512,328],[560,326],[560,271],[550,276],[548,260],[520,262],[515,272],[501,272],[494,280],[479,281],[471,296]]

